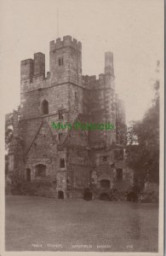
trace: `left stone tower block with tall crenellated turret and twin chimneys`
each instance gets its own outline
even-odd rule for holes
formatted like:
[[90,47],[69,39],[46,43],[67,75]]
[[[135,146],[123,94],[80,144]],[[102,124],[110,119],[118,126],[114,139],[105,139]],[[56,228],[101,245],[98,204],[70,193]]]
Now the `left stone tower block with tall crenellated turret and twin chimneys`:
[[45,77],[45,55],[40,52],[34,60],[21,61],[20,138],[26,162],[22,172],[25,179],[54,180],[65,195],[66,148],[58,149],[58,144],[68,131],[54,130],[52,124],[73,123],[83,113],[82,44],[71,36],[51,41],[49,67]]

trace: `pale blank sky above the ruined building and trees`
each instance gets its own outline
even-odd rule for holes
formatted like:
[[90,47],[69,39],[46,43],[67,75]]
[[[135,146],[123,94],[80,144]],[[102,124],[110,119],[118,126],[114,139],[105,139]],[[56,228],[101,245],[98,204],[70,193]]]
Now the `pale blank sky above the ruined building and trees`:
[[49,71],[49,42],[71,35],[82,42],[83,75],[98,78],[104,73],[104,53],[113,52],[127,122],[141,119],[152,102],[157,60],[163,60],[163,10],[163,0],[2,0],[3,112],[20,104],[20,61],[41,51]]

